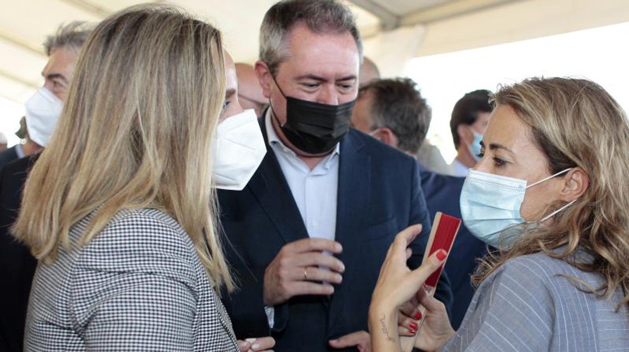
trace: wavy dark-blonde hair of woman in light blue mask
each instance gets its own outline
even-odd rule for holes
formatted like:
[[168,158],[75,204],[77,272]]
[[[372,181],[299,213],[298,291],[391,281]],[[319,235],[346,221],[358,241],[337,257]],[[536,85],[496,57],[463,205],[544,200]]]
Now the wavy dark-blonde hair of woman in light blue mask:
[[[577,288],[598,297],[610,297],[621,288],[625,297],[617,308],[629,305],[629,183],[625,181],[629,122],[625,111],[601,86],[586,79],[526,79],[501,87],[494,100],[515,109],[531,128],[535,144],[547,156],[549,174],[579,167],[587,174],[589,186],[552,221],[528,227],[508,251],[482,261],[474,282],[481,282],[511,258],[543,252],[604,278],[601,287],[569,278]],[[562,205],[551,205],[545,213]],[[577,260],[579,250],[593,260]]]

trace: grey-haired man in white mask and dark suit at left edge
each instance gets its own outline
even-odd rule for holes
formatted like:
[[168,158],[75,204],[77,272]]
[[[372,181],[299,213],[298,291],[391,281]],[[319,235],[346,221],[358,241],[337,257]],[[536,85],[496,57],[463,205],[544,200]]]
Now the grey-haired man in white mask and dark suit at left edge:
[[[83,22],[62,25],[44,42],[48,62],[43,68],[44,84],[26,101],[26,128],[30,140],[42,150],[48,144],[63,101],[74,76],[79,51],[91,28]],[[36,261],[28,249],[16,242],[9,228],[19,212],[21,191],[27,171],[36,160],[23,157],[0,171],[0,346],[3,351],[22,351],[24,324],[31,280]],[[42,195],[45,196],[45,195]]]

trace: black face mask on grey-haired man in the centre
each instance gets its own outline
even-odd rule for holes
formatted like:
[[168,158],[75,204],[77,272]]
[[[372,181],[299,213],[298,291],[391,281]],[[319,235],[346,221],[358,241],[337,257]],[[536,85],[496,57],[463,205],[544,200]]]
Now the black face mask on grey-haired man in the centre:
[[[277,82],[276,86],[279,88]],[[355,100],[341,105],[327,105],[286,96],[281,88],[279,91],[286,99],[286,123],[282,125],[279,120],[277,123],[286,138],[299,150],[309,154],[329,152],[349,132]],[[277,119],[275,111],[272,113]]]

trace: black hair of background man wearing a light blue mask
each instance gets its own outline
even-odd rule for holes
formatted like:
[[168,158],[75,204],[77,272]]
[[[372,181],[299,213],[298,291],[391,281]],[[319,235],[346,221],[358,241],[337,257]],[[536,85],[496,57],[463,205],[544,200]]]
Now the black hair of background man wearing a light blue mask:
[[487,89],[478,89],[467,93],[460,98],[454,105],[452,110],[452,118],[450,118],[450,132],[452,132],[452,140],[454,147],[459,148],[459,125],[472,125],[478,119],[478,113],[491,113],[494,110],[491,99],[491,91]]

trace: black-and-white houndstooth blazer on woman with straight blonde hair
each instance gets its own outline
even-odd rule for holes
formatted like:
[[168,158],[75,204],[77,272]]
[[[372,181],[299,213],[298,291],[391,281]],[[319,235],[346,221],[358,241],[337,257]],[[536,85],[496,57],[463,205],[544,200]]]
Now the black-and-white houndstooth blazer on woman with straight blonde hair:
[[[70,229],[72,243],[88,217]],[[40,263],[26,351],[238,351],[182,227],[159,210],[118,213],[89,244]]]

